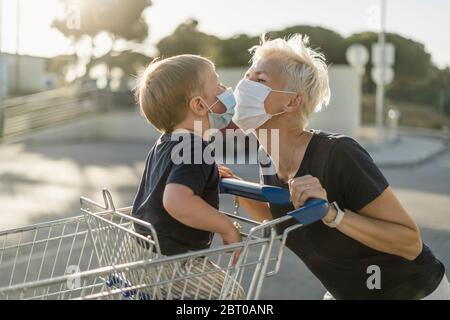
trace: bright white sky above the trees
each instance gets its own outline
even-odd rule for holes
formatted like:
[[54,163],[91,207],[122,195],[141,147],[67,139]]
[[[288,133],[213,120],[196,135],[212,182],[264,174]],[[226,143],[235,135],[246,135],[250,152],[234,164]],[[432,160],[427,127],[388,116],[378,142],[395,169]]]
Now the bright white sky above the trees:
[[[20,44],[22,54],[54,56],[71,53],[73,47],[58,31],[50,28],[55,16],[63,15],[58,0],[0,0],[1,49],[16,50],[16,7],[20,1]],[[74,0],[76,1],[76,0]],[[439,67],[450,65],[450,1],[387,0],[386,29],[425,44]],[[323,26],[349,36],[355,32],[377,31],[381,0],[153,0],[145,12],[150,25],[146,41],[153,44],[189,18],[197,19],[201,31],[230,37],[238,33],[260,35],[269,30],[298,24]],[[100,48],[108,40],[100,37]]]

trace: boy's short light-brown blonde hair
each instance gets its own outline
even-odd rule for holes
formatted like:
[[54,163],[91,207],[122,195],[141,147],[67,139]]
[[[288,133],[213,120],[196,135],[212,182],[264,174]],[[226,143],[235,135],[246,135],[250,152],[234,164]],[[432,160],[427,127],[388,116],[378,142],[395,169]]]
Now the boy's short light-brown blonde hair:
[[150,63],[138,81],[136,100],[147,120],[162,132],[171,132],[187,115],[189,101],[203,95],[202,73],[214,64],[184,54]]

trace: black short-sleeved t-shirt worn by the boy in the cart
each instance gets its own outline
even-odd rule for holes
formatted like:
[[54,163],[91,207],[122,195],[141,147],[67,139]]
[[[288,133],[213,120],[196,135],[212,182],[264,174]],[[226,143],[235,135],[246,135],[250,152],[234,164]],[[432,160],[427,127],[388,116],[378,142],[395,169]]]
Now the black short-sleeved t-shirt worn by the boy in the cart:
[[[165,210],[162,201],[165,186],[177,183],[189,187],[195,195],[219,208],[219,174],[215,162],[204,161],[202,157],[207,148],[207,142],[198,135],[166,133],[148,154],[132,215],[154,226],[161,252],[165,255],[206,249],[211,245],[211,232],[177,221]],[[182,157],[181,163],[173,161],[173,154]],[[141,234],[149,234],[137,224],[135,228]]]

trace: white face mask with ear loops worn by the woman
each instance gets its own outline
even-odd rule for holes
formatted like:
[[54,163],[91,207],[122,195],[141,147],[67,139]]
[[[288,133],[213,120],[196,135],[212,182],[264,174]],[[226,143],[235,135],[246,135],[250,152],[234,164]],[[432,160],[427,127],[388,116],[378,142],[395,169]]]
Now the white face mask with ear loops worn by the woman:
[[248,79],[242,79],[238,83],[234,90],[236,108],[234,111],[233,122],[244,131],[244,133],[247,134],[252,130],[261,127],[273,116],[286,112],[282,111],[275,114],[268,114],[266,112],[264,101],[272,91],[297,94],[297,92],[292,91],[272,90],[266,85]]

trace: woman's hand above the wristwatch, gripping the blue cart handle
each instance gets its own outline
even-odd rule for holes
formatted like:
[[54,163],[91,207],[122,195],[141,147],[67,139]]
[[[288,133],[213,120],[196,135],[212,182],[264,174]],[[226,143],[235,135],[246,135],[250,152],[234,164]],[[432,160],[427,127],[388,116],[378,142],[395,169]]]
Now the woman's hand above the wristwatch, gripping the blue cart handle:
[[[289,180],[289,192],[294,208],[300,208],[308,199],[317,198],[328,201],[327,191],[322,187],[319,179],[306,175]],[[328,209],[322,221],[330,223],[336,218],[337,212],[333,206]]]

